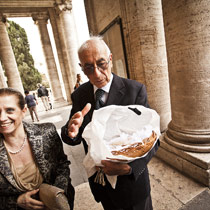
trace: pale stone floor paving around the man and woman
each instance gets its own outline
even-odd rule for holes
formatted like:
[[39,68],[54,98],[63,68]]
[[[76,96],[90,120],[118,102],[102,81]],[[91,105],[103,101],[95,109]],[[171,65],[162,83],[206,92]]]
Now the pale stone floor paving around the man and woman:
[[[66,123],[71,106],[43,111],[38,105],[40,123],[53,122],[58,132]],[[31,121],[27,114],[26,121]],[[72,183],[75,186],[76,198],[74,210],[101,210],[89,189],[86,172],[82,165],[85,156],[82,145],[68,146],[64,151],[71,161]],[[149,165],[154,210],[210,210],[209,188],[182,175],[171,166],[154,157]]]

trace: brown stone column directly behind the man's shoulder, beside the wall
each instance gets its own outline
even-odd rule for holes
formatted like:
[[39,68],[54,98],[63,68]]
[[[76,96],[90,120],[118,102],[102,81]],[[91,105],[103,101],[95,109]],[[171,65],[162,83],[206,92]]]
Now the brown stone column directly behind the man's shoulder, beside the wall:
[[131,79],[146,85],[163,132],[171,107],[161,0],[122,0],[121,12]]

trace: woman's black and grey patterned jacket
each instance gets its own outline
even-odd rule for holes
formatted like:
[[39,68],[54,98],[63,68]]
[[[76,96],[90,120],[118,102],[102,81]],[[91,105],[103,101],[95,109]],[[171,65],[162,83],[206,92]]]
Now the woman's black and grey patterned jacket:
[[[74,188],[69,178],[70,162],[64,154],[60,137],[52,123],[24,123],[35,161],[43,176],[44,183],[57,186],[65,191],[71,206],[74,200]],[[17,209],[17,197],[23,192],[16,188],[10,169],[3,138],[0,138],[0,209]],[[18,208],[19,209],[19,208]],[[21,208],[20,208],[21,209]]]

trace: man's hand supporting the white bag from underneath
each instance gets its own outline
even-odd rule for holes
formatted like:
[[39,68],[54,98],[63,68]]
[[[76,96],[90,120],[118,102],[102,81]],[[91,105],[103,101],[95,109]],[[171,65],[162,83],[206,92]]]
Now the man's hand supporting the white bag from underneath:
[[130,173],[131,167],[127,163],[115,163],[108,160],[102,160],[102,170],[109,176],[127,175]]

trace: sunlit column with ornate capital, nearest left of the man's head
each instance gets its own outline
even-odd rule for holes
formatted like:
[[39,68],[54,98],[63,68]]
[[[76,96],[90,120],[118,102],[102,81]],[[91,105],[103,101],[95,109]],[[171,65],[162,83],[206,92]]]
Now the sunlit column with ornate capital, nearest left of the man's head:
[[68,74],[73,82],[74,87],[74,84],[76,82],[76,73],[81,71],[78,65],[78,40],[74,17],[72,14],[72,2],[71,0],[64,0],[63,2],[63,4],[57,5],[56,12],[60,16],[60,26],[63,26],[62,28],[67,49],[68,65],[70,68],[70,72]]

